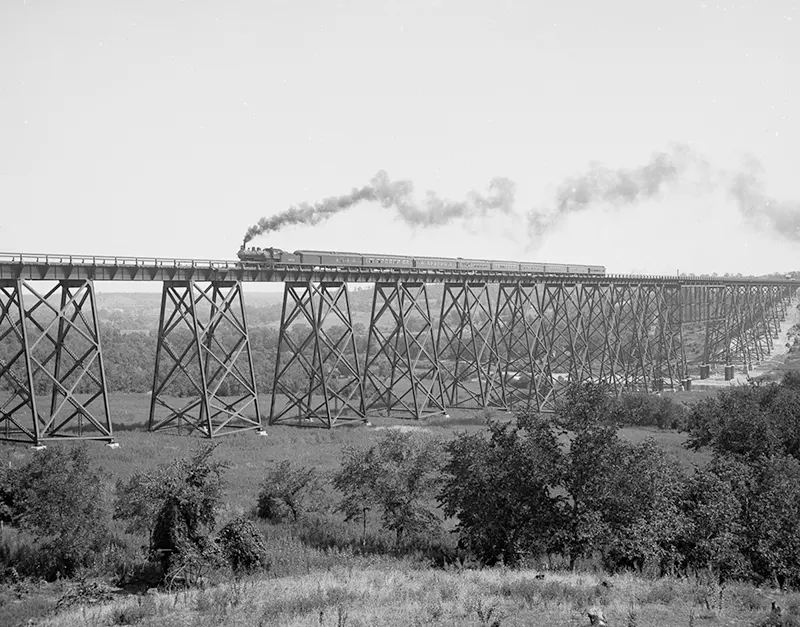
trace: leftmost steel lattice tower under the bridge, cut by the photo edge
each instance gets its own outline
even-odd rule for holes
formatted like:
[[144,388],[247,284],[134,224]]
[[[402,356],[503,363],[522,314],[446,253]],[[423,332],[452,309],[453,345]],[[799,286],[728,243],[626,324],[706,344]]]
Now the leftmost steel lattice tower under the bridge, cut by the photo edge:
[[0,281],[0,347],[0,440],[114,441],[92,281]]

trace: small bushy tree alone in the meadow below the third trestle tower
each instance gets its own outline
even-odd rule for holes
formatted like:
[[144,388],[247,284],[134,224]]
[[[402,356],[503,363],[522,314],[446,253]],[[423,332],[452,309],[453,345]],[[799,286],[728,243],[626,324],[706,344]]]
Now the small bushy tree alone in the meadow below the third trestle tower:
[[256,515],[279,521],[288,513],[297,522],[305,514],[306,504],[321,494],[322,483],[316,468],[283,461],[267,471],[258,494]]

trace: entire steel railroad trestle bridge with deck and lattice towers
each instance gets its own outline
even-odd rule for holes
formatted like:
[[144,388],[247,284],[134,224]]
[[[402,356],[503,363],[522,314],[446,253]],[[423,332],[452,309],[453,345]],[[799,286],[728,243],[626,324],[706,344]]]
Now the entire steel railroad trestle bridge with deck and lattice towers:
[[[767,357],[800,287],[0,253],[0,439],[113,442],[95,281],[163,283],[149,429],[206,437],[454,407],[551,411],[571,382],[685,389],[712,368],[749,370]],[[274,368],[262,373],[266,420],[248,282],[284,284]],[[366,337],[351,283],[374,284]]]

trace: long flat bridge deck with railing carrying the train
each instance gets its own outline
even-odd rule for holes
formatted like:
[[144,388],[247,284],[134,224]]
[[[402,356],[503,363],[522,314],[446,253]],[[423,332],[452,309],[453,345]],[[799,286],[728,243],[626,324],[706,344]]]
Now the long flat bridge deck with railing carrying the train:
[[681,285],[791,285],[788,279],[751,279],[713,276],[661,275],[568,275],[523,272],[449,270],[362,270],[359,268],[258,267],[239,261],[213,259],[169,259],[158,257],[109,257],[99,255],[58,255],[45,253],[0,253],[0,281],[245,281],[251,283],[338,282],[393,283],[658,283]]

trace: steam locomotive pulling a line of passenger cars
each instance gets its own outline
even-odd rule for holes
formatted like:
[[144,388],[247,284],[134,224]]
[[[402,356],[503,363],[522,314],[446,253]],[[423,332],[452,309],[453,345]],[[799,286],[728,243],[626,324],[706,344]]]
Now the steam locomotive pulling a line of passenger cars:
[[604,276],[605,266],[538,263],[531,261],[497,261],[464,259],[462,257],[408,257],[404,255],[374,255],[333,250],[296,250],[280,248],[242,248],[237,254],[245,265],[354,268],[360,270],[426,270],[461,272],[521,272],[531,274],[590,274]]

